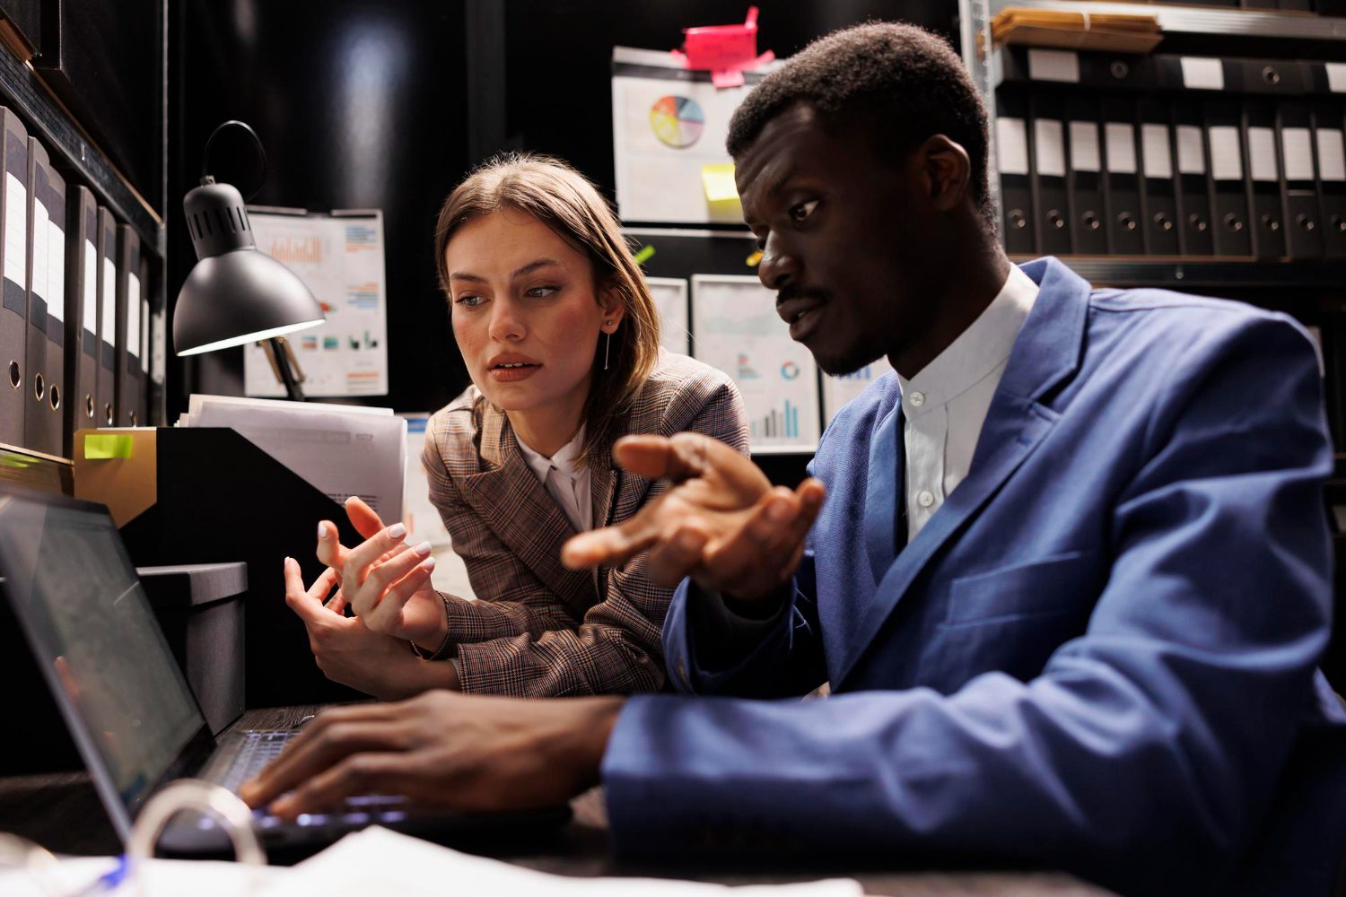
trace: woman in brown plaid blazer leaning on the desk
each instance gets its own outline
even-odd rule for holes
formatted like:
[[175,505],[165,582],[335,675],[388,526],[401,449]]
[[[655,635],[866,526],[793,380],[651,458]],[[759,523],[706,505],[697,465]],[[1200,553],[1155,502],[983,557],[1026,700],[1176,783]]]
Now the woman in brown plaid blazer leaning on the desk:
[[478,600],[432,589],[429,546],[406,546],[400,524],[353,500],[365,543],[347,551],[319,524],[328,570],[307,590],[287,559],[287,601],[319,666],[381,698],[661,689],[672,589],[650,581],[645,555],[567,570],[561,545],[664,491],[612,464],[622,436],[692,430],[747,453],[738,389],[660,350],[615,215],[564,163],[486,163],[440,210],[435,257],[472,385],[431,418],[421,460]]

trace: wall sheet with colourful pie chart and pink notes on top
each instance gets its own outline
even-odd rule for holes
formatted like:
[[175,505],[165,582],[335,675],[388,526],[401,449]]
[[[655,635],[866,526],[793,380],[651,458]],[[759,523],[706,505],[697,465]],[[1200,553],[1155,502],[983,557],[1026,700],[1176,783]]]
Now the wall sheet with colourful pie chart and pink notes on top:
[[760,74],[747,73],[747,83],[725,90],[709,78],[664,51],[612,48],[612,152],[622,221],[743,223],[732,176],[725,178],[734,160],[724,137]]

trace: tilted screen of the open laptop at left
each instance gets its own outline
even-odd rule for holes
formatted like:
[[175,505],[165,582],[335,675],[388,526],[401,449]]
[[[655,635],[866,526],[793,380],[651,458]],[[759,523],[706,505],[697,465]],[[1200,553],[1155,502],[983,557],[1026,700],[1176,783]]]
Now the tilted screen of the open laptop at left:
[[135,815],[205,719],[112,519],[0,492],[0,573],[94,781]]

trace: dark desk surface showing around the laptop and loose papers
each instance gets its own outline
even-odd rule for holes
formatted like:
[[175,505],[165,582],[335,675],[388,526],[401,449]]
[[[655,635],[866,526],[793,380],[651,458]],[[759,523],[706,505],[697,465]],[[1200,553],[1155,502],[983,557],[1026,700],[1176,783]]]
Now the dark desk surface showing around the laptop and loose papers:
[[[284,729],[314,707],[249,710],[232,728]],[[633,865],[618,861],[607,835],[602,789],[588,791],[572,803],[575,818],[555,839],[522,851],[493,854],[520,866],[563,875],[656,875],[716,881],[725,885],[782,884],[844,875],[856,878],[868,894],[891,897],[1106,897],[1110,892],[1055,873],[1003,871],[856,871],[820,866],[805,871],[704,869],[695,865]],[[0,777],[0,831],[30,838],[57,853],[116,854],[121,843],[108,822],[89,776],[82,772]]]

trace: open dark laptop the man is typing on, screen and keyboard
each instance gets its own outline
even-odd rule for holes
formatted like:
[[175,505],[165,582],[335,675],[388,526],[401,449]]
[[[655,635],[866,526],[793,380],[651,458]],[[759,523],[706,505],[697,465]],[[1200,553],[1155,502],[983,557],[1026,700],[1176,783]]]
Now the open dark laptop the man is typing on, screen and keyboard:
[[[205,779],[237,792],[299,734],[210,734],[104,506],[0,487],[0,576],[122,843],[145,800],[168,781]],[[567,819],[568,807],[463,814],[363,795],[336,812],[296,822],[258,810],[253,828],[273,857],[300,857],[367,824],[447,843],[513,843]],[[187,812],[164,830],[159,849],[171,855],[233,850],[213,818]]]

